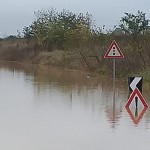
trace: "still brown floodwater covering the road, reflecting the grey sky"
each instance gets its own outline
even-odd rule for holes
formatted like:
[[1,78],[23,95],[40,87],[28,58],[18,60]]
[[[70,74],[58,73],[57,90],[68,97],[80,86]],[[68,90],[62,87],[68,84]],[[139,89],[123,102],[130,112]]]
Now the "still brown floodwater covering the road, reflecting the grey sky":
[[[125,109],[127,80],[116,79],[115,97],[112,83],[106,76],[0,62],[0,149],[148,150],[149,108]],[[149,103],[149,89],[143,96]]]

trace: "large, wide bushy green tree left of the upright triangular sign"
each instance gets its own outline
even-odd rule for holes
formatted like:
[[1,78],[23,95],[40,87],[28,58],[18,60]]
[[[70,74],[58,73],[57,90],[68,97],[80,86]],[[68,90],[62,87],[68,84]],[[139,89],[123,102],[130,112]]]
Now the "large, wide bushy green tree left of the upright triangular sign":
[[[36,19],[23,30],[24,37],[35,37],[38,45],[53,50],[66,49],[67,45],[74,47],[82,45],[88,39],[91,32],[92,16],[79,13],[75,14],[68,10],[61,12],[55,9],[35,12]],[[74,47],[75,48],[75,47]]]

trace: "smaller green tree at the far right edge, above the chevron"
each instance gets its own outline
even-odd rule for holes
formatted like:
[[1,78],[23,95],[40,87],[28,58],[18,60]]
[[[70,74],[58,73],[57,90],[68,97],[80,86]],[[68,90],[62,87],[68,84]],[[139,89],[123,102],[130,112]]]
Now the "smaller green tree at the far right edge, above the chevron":
[[[146,65],[144,57],[145,33],[149,29],[149,20],[146,19],[146,13],[138,11],[137,14],[125,13],[121,18],[120,27],[122,31],[128,35],[130,51],[134,53],[134,59],[139,58],[140,64]],[[135,56],[136,55],[136,56]]]

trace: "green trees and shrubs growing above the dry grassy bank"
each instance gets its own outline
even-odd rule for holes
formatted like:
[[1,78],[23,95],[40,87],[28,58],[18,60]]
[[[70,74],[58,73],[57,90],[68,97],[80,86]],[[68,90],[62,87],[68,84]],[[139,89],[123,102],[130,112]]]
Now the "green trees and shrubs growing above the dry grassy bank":
[[[112,40],[116,40],[126,56],[123,61],[119,62],[120,72],[122,68],[124,68],[123,71],[128,72],[133,68],[143,69],[150,65],[149,19],[142,11],[136,14],[125,12],[119,25],[105,33],[103,32],[105,26],[96,26],[89,13],[57,11],[51,8],[39,10],[34,14],[35,20],[31,25],[23,28],[23,37],[18,32],[17,36],[9,36],[6,39],[17,38],[34,42],[36,48],[33,49],[36,51],[38,49],[40,51],[65,51],[70,57],[69,61],[72,61],[76,52],[87,66],[90,57],[90,59],[94,58],[101,67],[106,64],[112,67],[111,62],[104,60],[103,56]],[[66,58],[68,59],[68,56]]]

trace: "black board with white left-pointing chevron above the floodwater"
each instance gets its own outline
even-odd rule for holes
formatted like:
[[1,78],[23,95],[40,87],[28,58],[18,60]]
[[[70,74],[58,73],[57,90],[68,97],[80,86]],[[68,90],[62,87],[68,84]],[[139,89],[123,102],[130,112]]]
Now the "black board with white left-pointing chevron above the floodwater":
[[138,88],[139,91],[142,93],[142,82],[143,77],[129,77],[128,84],[129,84],[129,92],[133,92],[135,88]]

